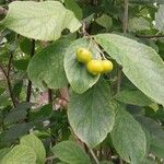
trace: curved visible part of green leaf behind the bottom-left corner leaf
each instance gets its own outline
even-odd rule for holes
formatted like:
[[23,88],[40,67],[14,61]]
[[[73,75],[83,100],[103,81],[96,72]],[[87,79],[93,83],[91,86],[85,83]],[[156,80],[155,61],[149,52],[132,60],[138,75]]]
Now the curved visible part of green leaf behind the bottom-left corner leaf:
[[45,163],[46,151],[44,144],[35,134],[27,134],[23,137],[20,142],[22,145],[30,147],[35,151],[37,164]]

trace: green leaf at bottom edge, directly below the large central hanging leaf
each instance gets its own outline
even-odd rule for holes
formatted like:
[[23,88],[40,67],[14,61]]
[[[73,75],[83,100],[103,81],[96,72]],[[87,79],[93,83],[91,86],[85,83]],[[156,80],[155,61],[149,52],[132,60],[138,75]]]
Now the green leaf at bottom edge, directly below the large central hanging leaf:
[[51,149],[52,153],[68,164],[91,164],[82,148],[71,141],[63,141]]

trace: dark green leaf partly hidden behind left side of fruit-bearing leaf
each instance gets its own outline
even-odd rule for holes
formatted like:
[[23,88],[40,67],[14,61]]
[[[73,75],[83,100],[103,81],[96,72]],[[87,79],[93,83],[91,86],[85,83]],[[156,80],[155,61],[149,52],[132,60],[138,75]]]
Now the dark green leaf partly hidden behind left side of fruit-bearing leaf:
[[63,69],[63,57],[68,45],[68,40],[58,40],[32,58],[27,73],[36,86],[44,86],[43,82],[49,89],[59,89],[68,84]]

